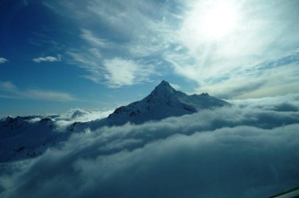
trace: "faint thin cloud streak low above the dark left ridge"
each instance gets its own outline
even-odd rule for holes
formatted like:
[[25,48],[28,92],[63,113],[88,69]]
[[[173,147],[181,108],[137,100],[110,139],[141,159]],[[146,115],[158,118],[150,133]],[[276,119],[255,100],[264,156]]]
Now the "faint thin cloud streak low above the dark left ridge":
[[0,81],[0,94],[0,97],[15,99],[45,100],[57,102],[67,102],[76,100],[76,98],[73,95],[64,92],[56,92],[41,89],[21,90],[20,88],[14,86],[13,83],[10,81]]

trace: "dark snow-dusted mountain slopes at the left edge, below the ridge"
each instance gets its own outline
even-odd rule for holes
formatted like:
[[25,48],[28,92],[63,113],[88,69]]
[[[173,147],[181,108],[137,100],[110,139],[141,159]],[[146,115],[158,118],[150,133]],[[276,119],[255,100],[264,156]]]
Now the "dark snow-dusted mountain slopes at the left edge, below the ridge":
[[64,140],[51,117],[7,117],[0,120],[0,162],[36,157]]

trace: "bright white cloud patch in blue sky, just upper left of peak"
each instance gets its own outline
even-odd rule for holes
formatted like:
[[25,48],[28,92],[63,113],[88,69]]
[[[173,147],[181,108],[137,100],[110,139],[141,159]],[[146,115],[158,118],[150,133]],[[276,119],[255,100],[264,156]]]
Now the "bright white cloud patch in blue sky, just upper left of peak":
[[87,70],[88,78],[95,83],[105,83],[109,87],[123,87],[149,80],[149,76],[157,73],[152,64],[115,57],[102,60],[101,53],[91,48],[89,53],[69,52],[80,67]]

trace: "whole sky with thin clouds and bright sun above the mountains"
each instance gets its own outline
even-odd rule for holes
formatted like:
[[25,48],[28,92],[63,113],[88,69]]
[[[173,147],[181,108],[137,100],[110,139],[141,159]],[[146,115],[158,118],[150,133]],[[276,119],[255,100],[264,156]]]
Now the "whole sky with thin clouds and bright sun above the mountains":
[[162,79],[224,99],[298,93],[298,6],[1,1],[0,115],[113,109]]

